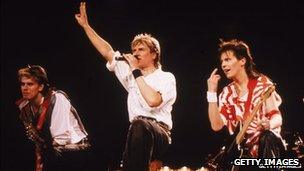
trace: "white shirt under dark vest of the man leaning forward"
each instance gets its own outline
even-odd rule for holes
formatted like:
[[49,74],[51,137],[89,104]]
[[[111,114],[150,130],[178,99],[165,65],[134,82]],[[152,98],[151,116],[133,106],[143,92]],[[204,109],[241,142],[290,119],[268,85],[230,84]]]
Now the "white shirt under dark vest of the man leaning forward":
[[70,101],[61,93],[55,93],[55,96],[56,103],[50,126],[52,138],[60,145],[78,143],[87,134],[81,131],[77,119],[71,112]]

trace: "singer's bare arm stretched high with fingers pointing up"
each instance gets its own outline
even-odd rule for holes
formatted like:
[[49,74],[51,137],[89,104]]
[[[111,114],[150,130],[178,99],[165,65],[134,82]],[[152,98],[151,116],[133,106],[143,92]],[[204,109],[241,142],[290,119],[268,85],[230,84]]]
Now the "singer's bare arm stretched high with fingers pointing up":
[[94,29],[91,28],[87,12],[86,12],[86,3],[81,2],[79,7],[79,14],[75,14],[75,18],[78,22],[78,24],[84,29],[86,35],[90,39],[91,43],[94,45],[94,47],[98,50],[98,52],[102,55],[104,59],[106,59],[109,62],[112,62],[114,50],[112,49],[111,45],[105,41],[103,38],[101,38]]

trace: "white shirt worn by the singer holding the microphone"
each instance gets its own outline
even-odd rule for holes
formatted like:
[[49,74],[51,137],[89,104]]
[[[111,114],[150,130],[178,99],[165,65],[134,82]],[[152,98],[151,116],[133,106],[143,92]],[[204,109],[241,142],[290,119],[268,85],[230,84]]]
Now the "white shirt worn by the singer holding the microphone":
[[117,61],[115,57],[120,56],[115,52],[111,63],[107,63],[109,71],[115,72],[116,77],[124,88],[128,91],[128,113],[129,120],[132,122],[136,116],[147,116],[162,121],[172,128],[171,111],[176,100],[176,81],[170,72],[164,72],[160,68],[153,73],[144,76],[145,82],[158,91],[162,97],[162,103],[157,107],[150,107],[144,100],[126,61]]

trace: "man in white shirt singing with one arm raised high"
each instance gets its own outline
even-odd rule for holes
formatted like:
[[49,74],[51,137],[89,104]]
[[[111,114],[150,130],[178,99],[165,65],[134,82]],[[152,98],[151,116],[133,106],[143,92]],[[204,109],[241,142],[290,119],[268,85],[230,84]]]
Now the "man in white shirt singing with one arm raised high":
[[149,34],[137,35],[131,43],[132,54],[121,55],[90,27],[85,2],[80,3],[80,13],[75,18],[107,61],[107,68],[128,91],[131,125],[124,170],[148,170],[150,162],[159,159],[171,142],[171,111],[176,99],[175,77],[160,66],[159,42]]

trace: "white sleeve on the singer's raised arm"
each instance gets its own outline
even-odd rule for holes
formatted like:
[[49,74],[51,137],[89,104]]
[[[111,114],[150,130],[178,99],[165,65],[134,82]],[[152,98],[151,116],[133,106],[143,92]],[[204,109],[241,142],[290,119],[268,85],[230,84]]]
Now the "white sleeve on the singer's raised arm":
[[119,51],[116,51],[113,56],[112,62],[107,62],[106,67],[109,71],[115,73],[116,77],[118,78],[119,82],[124,86],[124,88],[129,91],[129,80],[132,76],[131,70],[129,65],[126,61],[117,61],[116,57],[121,56]]

